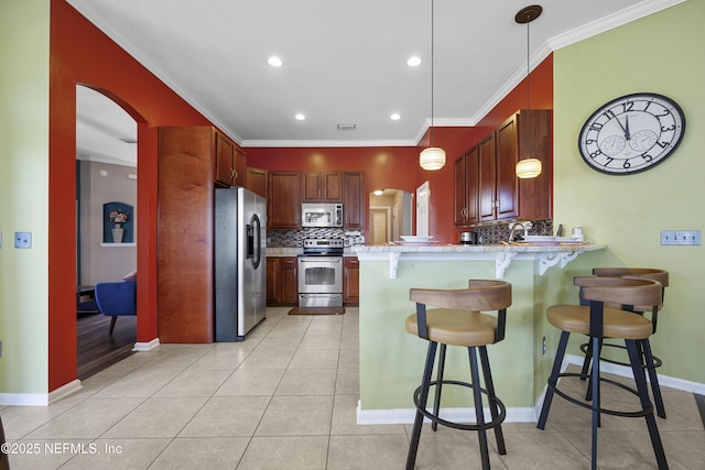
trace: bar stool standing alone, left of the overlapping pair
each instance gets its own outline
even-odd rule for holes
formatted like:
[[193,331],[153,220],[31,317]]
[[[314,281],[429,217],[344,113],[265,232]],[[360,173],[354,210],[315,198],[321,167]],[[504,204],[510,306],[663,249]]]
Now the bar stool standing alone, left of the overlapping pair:
[[[419,439],[424,417],[431,419],[433,430],[437,425],[455,429],[476,430],[479,435],[482,469],[489,469],[489,451],[487,429],[495,429],[497,449],[500,455],[507,453],[501,423],[507,416],[502,402],[495,394],[492,374],[487,357],[487,345],[499,342],[505,338],[507,307],[511,305],[511,284],[505,281],[470,280],[464,289],[424,289],[412,288],[409,297],[416,303],[416,313],[406,318],[406,331],[429,341],[429,352],[423,372],[423,380],[413,394],[416,405],[416,417],[409,446],[406,469],[412,470],[416,461]],[[436,307],[426,309],[426,306]],[[481,311],[497,310],[497,316]],[[436,349],[441,345],[437,379],[431,380],[435,362]],[[471,382],[445,380],[443,378],[445,352],[447,346],[462,346],[468,349]],[[477,353],[482,365],[485,389],[480,385]],[[438,416],[441,391],[443,385],[459,385],[473,390],[475,403],[475,424],[460,424],[443,419]],[[433,412],[426,408],[429,390],[435,387]],[[491,420],[485,422],[482,394],[487,395]]]

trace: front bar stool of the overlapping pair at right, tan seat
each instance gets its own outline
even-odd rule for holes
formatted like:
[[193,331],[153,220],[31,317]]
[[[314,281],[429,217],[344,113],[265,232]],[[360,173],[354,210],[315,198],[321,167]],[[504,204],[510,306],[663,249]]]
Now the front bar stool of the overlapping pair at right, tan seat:
[[[541,408],[538,427],[545,428],[549,411],[553,395],[556,394],[568,402],[592,409],[593,412],[593,446],[592,446],[592,468],[597,468],[597,428],[599,425],[599,416],[601,413],[626,416],[626,417],[644,417],[647,428],[651,437],[651,445],[657,458],[659,469],[668,469],[663,445],[659,436],[655,417],[653,416],[653,406],[649,397],[649,387],[647,385],[647,375],[644,372],[642,357],[640,351],[650,353],[649,337],[653,334],[651,321],[640,315],[625,311],[619,308],[612,308],[607,305],[642,305],[651,306],[651,310],[655,311],[661,304],[663,287],[657,281],[634,277],[600,277],[586,276],[575,277],[575,285],[581,287],[581,302],[588,305],[554,305],[549,307],[546,314],[549,323],[562,330],[558,349],[551,376],[546,395]],[[566,376],[579,378],[581,373],[564,372],[561,373],[561,363],[565,356],[565,349],[572,332],[588,335],[593,345],[593,351],[597,351],[599,357],[600,340],[603,338],[615,338],[625,340],[627,351],[629,352],[629,362],[634,375],[637,390],[629,386],[600,378],[599,363],[594,361],[590,372],[590,392],[592,403],[585,403],[582,397],[576,398],[570,396],[558,389],[558,379]],[[650,359],[650,358],[649,358]],[[620,386],[639,396],[641,409],[639,411],[615,411],[600,407],[599,389],[601,382]]]

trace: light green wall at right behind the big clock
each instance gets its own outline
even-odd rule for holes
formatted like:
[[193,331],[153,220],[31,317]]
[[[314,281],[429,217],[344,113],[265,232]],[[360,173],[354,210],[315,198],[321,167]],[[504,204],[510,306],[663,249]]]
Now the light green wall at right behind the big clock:
[[[705,1],[691,0],[554,53],[554,226],[583,226],[609,249],[601,265],[661,267],[671,285],[658,334],[660,373],[705,383],[699,346],[705,339],[702,283],[704,247],[661,247],[661,230],[703,230],[705,160]],[[681,105],[681,146],[657,167],[608,176],[587,167],[577,152],[585,120],[622,95],[651,91]],[[566,275],[589,274],[578,259]],[[570,300],[576,300],[572,289]],[[574,341],[570,352],[577,353]]]

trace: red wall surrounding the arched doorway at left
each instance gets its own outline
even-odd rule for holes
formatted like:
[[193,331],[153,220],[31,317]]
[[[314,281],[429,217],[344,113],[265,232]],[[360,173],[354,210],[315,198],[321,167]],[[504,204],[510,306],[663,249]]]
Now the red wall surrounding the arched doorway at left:
[[51,9],[50,392],[76,379],[76,84],[104,91],[138,122],[138,341],[158,336],[156,127],[209,124],[64,0]]

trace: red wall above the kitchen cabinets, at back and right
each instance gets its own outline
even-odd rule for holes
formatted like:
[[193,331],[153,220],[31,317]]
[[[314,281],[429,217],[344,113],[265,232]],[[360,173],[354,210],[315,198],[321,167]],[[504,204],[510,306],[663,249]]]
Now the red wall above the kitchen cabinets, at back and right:
[[[553,109],[553,56],[530,75],[530,108]],[[446,165],[436,172],[419,166],[419,152],[429,146],[429,132],[417,147],[247,147],[249,166],[264,170],[364,171],[367,193],[379,188],[399,188],[414,193],[429,182],[431,188],[430,227],[435,239],[456,243],[458,232],[453,220],[453,162],[501,124],[514,111],[527,108],[527,85],[521,81],[474,128],[434,128],[433,143],[446,152]]]

